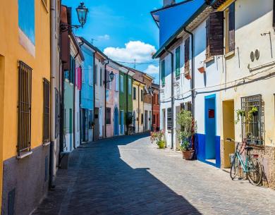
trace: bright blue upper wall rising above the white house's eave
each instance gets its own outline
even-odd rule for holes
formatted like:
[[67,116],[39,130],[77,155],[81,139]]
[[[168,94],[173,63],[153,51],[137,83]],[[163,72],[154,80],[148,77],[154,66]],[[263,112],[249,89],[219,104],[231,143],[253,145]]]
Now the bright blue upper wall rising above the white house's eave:
[[192,15],[204,0],[188,1],[154,13],[159,16],[159,47],[161,47]]

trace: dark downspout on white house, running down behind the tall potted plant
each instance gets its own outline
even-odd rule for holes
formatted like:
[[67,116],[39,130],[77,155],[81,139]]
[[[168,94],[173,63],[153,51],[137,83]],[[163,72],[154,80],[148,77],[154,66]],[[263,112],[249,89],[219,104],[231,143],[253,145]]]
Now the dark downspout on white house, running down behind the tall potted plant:
[[[192,116],[195,119],[195,45],[194,45],[194,35],[193,32],[186,30],[186,27],[183,27],[183,30],[191,36],[191,46],[192,46],[192,69],[191,69],[191,95],[192,95],[192,106],[191,112]],[[192,148],[195,148],[194,137],[192,137]]]

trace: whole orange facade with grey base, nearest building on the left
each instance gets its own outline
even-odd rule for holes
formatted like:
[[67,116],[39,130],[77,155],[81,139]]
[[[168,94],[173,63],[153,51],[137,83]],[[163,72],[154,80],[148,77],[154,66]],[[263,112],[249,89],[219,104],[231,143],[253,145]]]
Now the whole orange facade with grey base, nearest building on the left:
[[2,214],[30,214],[48,190],[49,10],[43,1],[1,2]]

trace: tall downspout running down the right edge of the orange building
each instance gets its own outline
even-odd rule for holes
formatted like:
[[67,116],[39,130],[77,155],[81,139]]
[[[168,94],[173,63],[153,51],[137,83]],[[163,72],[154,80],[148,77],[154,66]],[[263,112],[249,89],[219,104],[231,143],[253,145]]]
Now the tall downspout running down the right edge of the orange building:
[[49,188],[55,187],[55,154],[54,147],[56,145],[56,101],[55,89],[56,86],[56,42],[55,42],[55,13],[56,0],[51,0],[51,145],[49,149]]

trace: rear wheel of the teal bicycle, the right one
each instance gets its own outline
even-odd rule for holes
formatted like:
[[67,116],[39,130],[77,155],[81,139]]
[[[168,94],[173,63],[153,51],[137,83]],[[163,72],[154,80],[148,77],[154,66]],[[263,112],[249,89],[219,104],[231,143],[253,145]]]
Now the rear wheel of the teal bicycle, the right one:
[[257,186],[262,182],[262,166],[255,157],[247,161],[247,177],[252,185]]

